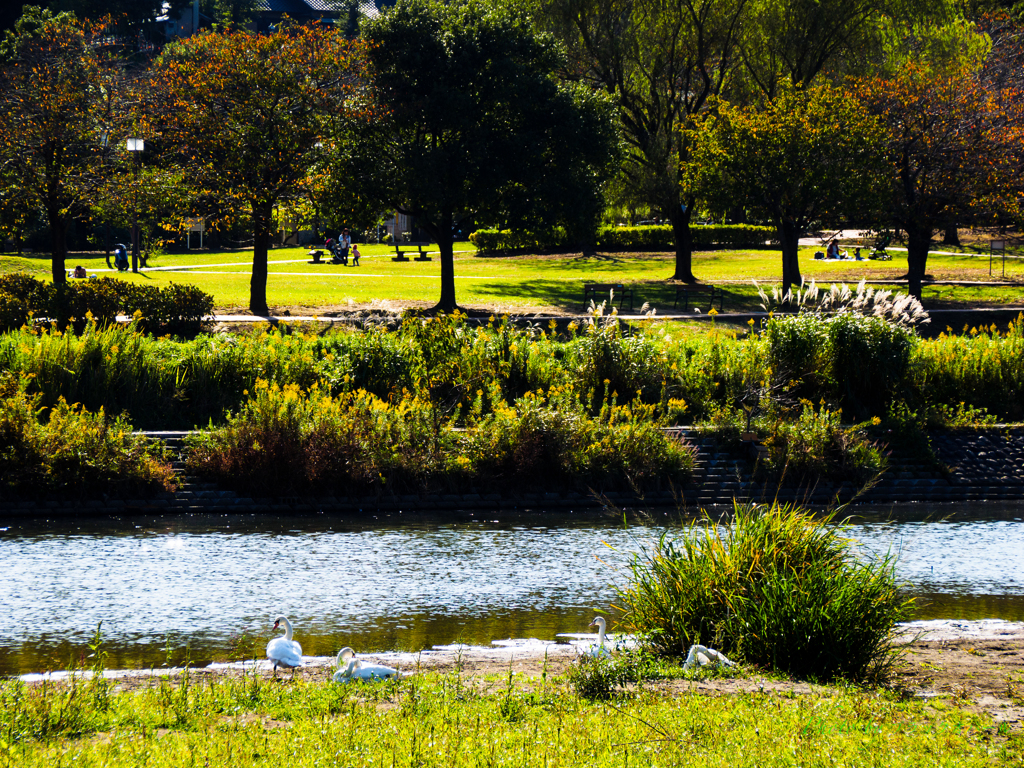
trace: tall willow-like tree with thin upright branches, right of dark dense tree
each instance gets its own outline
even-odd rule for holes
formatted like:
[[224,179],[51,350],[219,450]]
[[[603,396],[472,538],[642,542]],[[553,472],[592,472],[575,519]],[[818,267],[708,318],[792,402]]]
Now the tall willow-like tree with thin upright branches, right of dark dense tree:
[[609,94],[627,144],[624,184],[672,224],[673,278],[692,272],[686,128],[732,75],[748,0],[543,0],[569,51],[564,76]]

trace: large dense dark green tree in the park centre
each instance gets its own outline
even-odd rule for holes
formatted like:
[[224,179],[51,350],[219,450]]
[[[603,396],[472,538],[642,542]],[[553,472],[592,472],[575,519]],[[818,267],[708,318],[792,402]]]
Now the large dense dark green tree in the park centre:
[[339,183],[414,216],[437,243],[439,310],[458,306],[453,243],[462,223],[560,224],[577,238],[596,227],[617,154],[610,110],[557,82],[558,49],[525,13],[399,0],[362,34],[379,114],[341,147]]

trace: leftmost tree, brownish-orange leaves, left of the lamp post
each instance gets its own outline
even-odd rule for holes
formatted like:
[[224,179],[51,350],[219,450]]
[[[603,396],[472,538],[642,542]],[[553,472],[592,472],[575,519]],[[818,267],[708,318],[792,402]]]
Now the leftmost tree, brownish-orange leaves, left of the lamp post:
[[112,173],[104,137],[116,135],[126,99],[123,71],[90,44],[102,33],[73,14],[27,6],[0,46],[0,162],[50,229],[54,283],[66,279],[68,229]]

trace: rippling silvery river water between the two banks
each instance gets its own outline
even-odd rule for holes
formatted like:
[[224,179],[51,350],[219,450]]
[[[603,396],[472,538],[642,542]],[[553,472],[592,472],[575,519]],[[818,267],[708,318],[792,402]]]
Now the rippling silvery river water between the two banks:
[[[849,528],[899,554],[918,618],[1024,621],[1024,507],[931,507]],[[310,655],[586,632],[628,579],[650,519],[249,515],[6,521],[0,675],[85,664],[102,623],[111,668],[262,655],[274,616]]]

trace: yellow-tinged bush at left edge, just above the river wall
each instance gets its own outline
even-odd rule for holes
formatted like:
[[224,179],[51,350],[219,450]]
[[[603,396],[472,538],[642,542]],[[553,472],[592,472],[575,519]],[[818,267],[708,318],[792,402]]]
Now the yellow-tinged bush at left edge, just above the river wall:
[[127,420],[63,398],[40,420],[39,396],[28,393],[28,383],[0,373],[0,496],[137,497],[173,487],[162,449],[133,434]]

